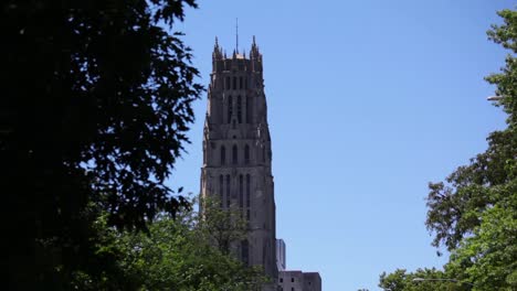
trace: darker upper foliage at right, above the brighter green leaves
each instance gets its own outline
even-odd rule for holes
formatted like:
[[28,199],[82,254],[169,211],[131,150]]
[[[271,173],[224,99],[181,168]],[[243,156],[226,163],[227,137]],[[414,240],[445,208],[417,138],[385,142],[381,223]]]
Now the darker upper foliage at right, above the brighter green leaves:
[[505,112],[508,128],[488,137],[488,149],[460,166],[446,183],[431,183],[428,196],[426,226],[435,233],[434,246],[443,242],[449,250],[458,247],[462,239],[473,234],[482,223],[483,213],[496,204],[516,195],[517,170],[517,12],[504,10],[498,13],[504,25],[493,25],[488,36],[509,48],[506,66],[499,74],[486,79],[497,86],[496,95]]

